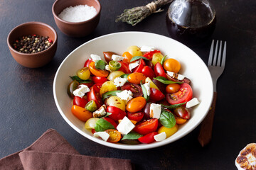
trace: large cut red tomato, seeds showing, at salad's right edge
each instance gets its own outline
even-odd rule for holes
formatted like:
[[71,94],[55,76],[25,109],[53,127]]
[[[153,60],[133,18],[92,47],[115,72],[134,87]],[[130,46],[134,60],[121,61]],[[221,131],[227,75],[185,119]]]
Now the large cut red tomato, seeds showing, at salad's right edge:
[[193,91],[191,86],[186,83],[181,84],[181,89],[178,90],[175,94],[166,94],[166,100],[171,104],[183,103],[190,101],[193,96]]

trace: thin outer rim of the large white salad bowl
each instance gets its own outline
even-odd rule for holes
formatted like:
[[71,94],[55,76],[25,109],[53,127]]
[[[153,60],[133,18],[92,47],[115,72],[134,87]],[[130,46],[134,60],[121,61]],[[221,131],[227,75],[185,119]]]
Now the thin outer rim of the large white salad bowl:
[[[102,35],[100,37],[97,37],[97,38],[94,38],[92,40],[89,40],[85,43],[82,43],[82,45],[85,45],[85,44],[88,44],[94,40],[97,40],[97,39],[100,39],[100,38],[103,38],[103,37],[107,37],[107,36],[112,36],[112,35],[118,35],[118,34],[126,34],[126,33],[143,33],[143,34],[148,34],[148,35],[157,35],[157,36],[161,36],[161,37],[164,37],[164,38],[169,38],[169,37],[166,37],[164,35],[159,35],[159,34],[156,34],[156,33],[148,33],[148,32],[142,32],[142,31],[124,31],[124,32],[117,32],[117,33],[110,33],[110,34],[107,34],[107,35]],[[171,40],[174,40],[172,38],[170,38]],[[176,41],[176,40],[175,40]],[[181,42],[178,42],[176,41],[176,43],[180,43],[181,45],[183,45]],[[66,116],[65,116],[65,113],[63,113],[63,111],[61,111],[61,108],[60,106],[58,105],[58,101],[57,101],[57,96],[55,94],[55,89],[56,89],[56,79],[57,79],[57,76],[58,76],[58,73],[60,71],[60,67],[63,65],[63,63],[65,62],[65,60],[68,59],[68,57],[70,57],[70,55],[73,55],[73,53],[78,50],[80,47],[82,47],[82,45],[78,46],[77,48],[75,48],[75,50],[73,50],[72,52],[70,52],[70,54],[68,54],[67,57],[65,57],[65,59],[63,60],[63,62],[60,64],[60,66],[58,67],[58,70],[57,72],[55,73],[55,77],[54,77],[54,80],[53,80],[53,97],[54,97],[54,101],[55,101],[55,104],[58,108],[58,111],[60,113],[60,115],[62,115],[62,117],[64,118],[64,120],[66,121],[66,123],[68,123],[68,125],[70,125],[75,131],[79,132],[80,135],[86,137],[88,140],[92,140],[94,142],[97,142],[98,144],[100,145],[104,145],[104,146],[107,146],[107,147],[112,147],[112,148],[116,148],[116,149],[127,149],[127,150],[142,150],[142,149],[152,149],[152,148],[156,148],[156,147],[161,147],[161,146],[164,146],[164,145],[168,145],[170,144],[171,142],[176,142],[177,140],[181,139],[182,137],[188,135],[188,133],[190,133],[191,131],[193,131],[196,127],[198,127],[198,125],[203,121],[204,118],[206,118],[206,115],[203,115],[201,117],[201,120],[199,120],[191,129],[187,130],[186,132],[184,132],[182,135],[179,135],[178,137],[175,138],[175,140],[163,140],[161,142],[154,142],[154,143],[151,143],[151,144],[141,144],[141,145],[118,145],[118,144],[114,144],[114,143],[110,143],[110,142],[105,142],[103,140],[100,140],[100,139],[97,139],[96,137],[93,137],[93,136],[90,136],[90,135],[87,135],[85,132],[83,132],[82,130],[80,130],[78,127],[76,127]],[[186,45],[183,45],[183,47],[186,47],[188,48],[189,50],[191,50],[189,47],[187,47]],[[193,52],[193,50],[191,50],[191,52]],[[203,62],[203,60],[201,59],[201,57],[199,57],[196,52],[193,52],[199,60],[201,60],[201,62]],[[212,78],[210,76],[210,72],[205,64],[205,62],[203,62],[203,67],[206,68],[206,70],[208,71],[208,75],[210,77],[210,80],[212,81]],[[208,111],[210,109],[210,106],[211,106],[211,103],[213,101],[213,83],[211,84],[211,86],[209,87],[209,91],[211,91],[212,93],[211,96],[210,96],[210,103],[208,103],[208,106],[206,106],[207,110]]]

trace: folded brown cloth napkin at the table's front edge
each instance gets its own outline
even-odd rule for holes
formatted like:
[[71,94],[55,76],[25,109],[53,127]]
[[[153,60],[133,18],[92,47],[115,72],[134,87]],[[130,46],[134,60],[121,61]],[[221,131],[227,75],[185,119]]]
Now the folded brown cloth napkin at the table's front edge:
[[128,159],[81,155],[56,130],[50,129],[30,147],[0,159],[0,169],[132,170],[132,164]]

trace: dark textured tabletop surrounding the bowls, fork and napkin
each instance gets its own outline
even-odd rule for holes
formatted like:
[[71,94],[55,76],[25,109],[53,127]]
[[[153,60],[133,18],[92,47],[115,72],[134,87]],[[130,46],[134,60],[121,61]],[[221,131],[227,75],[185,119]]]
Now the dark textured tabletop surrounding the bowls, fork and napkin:
[[[137,169],[235,169],[235,158],[247,143],[256,142],[256,1],[211,1],[217,12],[213,38],[227,40],[225,71],[218,80],[213,139],[205,148],[197,142],[198,128],[181,140],[142,151],[112,149],[75,132],[55,106],[53,78],[60,63],[76,47],[100,35],[120,31],[145,31],[168,36],[166,10],[137,26],[114,23],[124,8],[149,1],[102,0],[97,29],[85,38],[69,38],[53,20],[53,0],[0,0],[0,157],[31,145],[48,128],[54,128],[81,154],[131,159]],[[41,21],[58,33],[58,50],[52,62],[39,69],[21,67],[6,44],[9,31],[21,23]],[[210,43],[193,47],[204,62]]]

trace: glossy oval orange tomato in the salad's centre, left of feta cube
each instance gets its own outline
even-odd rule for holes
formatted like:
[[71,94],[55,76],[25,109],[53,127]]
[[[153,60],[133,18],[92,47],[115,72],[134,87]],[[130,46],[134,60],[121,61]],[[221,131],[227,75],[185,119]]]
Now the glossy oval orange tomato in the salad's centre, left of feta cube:
[[132,98],[132,100],[127,103],[126,110],[131,113],[137,113],[142,110],[145,105],[146,99],[142,96],[139,96],[137,98]]

